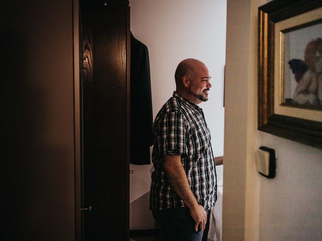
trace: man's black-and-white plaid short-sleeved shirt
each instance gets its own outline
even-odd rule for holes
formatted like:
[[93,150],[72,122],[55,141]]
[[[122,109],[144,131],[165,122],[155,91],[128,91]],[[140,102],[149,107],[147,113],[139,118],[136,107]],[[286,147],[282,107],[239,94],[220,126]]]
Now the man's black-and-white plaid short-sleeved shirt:
[[150,209],[184,207],[170,185],[162,158],[181,154],[181,163],[197,201],[210,209],[216,201],[216,169],[210,132],[202,109],[174,92],[155,117]]

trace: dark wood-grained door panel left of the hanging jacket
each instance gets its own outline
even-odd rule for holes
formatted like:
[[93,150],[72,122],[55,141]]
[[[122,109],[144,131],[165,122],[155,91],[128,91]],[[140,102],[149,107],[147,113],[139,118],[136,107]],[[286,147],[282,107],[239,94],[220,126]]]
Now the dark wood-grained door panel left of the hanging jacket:
[[81,26],[83,238],[128,240],[128,1],[81,2]]

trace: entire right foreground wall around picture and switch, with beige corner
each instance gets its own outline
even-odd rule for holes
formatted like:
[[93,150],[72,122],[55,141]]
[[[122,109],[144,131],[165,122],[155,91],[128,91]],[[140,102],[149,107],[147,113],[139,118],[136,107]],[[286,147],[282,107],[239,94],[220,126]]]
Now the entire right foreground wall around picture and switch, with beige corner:
[[[258,7],[227,1],[223,240],[321,240],[322,151],[257,131]],[[275,149],[277,173],[256,172],[255,151]]]

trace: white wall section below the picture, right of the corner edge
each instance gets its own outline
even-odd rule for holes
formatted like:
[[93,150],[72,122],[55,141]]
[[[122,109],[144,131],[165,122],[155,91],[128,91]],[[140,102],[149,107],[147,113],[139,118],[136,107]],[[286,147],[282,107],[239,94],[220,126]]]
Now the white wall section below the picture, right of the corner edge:
[[322,240],[322,151],[269,134],[276,178],[258,177],[259,240]]

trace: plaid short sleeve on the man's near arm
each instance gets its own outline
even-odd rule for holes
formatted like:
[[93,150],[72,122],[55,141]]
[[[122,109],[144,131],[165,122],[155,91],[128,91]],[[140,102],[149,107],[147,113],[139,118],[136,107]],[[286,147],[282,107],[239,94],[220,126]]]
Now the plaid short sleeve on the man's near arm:
[[183,115],[178,112],[166,113],[160,122],[160,154],[186,155],[186,128]]

